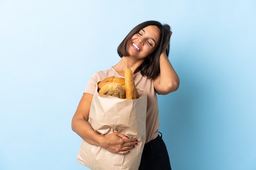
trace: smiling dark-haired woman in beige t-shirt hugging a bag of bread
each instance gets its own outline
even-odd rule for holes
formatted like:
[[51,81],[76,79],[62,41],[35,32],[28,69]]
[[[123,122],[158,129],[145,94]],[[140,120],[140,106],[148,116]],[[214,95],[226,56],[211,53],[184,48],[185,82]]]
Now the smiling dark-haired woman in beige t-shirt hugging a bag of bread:
[[117,48],[121,60],[108,70],[99,71],[90,78],[76,113],[72,130],[86,142],[101,146],[117,154],[128,154],[137,145],[137,139],[121,133],[100,135],[88,123],[92,97],[97,82],[109,76],[124,77],[125,68],[134,75],[136,88],[147,92],[146,144],[141,157],[140,170],[171,169],[164,141],[159,136],[157,94],[169,94],[179,87],[179,78],[168,60],[170,26],[157,21],[147,21],[130,31]]

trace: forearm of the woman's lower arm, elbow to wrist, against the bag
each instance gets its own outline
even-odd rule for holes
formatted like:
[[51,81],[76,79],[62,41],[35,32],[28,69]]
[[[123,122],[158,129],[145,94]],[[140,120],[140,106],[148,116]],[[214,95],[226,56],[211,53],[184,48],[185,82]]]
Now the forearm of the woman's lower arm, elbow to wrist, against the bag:
[[101,146],[103,135],[94,131],[92,126],[86,120],[82,118],[74,118],[72,120],[72,130],[89,144]]

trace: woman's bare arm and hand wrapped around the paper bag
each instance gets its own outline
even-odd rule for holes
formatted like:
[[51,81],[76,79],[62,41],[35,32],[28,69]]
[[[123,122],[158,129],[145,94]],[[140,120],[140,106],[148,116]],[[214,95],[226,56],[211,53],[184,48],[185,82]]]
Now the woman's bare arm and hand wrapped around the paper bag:
[[72,130],[92,145],[101,146],[112,153],[126,154],[136,145],[136,139],[128,138],[121,133],[101,135],[88,123],[92,94],[84,93],[72,118]]

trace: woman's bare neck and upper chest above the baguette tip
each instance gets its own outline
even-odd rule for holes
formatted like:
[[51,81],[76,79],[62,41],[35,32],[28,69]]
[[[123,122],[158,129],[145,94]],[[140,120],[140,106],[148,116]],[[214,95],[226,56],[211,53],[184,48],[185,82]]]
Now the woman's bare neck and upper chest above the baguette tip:
[[143,60],[137,60],[130,56],[122,57],[119,63],[113,66],[113,68],[121,75],[124,76],[124,70],[126,68],[130,68],[132,70],[133,75],[139,72],[139,66],[143,63]]

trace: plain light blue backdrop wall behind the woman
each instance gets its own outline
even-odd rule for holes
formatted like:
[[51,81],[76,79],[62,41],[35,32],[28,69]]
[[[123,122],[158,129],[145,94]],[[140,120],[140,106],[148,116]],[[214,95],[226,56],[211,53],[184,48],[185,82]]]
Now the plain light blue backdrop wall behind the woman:
[[254,0],[1,0],[1,170],[87,169],[72,116],[146,20],[173,31],[180,87],[158,96],[173,170],[256,170]]

